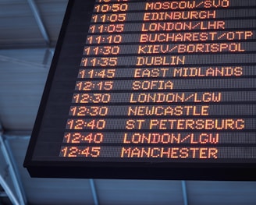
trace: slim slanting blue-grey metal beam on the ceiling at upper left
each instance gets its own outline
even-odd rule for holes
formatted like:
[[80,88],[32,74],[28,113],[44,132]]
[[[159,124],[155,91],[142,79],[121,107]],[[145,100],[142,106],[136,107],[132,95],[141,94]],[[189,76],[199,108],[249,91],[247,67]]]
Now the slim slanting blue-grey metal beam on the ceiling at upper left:
[[40,12],[37,8],[37,5],[36,3],[34,2],[34,0],[27,0],[28,4],[30,5],[30,9],[32,10],[33,14],[34,14],[34,18],[36,19],[37,21],[37,25],[41,31],[41,34],[42,36],[44,37],[44,41],[45,43],[50,46],[51,44],[51,41],[50,41],[50,38],[48,36],[48,33],[47,33],[47,30],[45,29],[44,27],[44,23],[41,19],[41,16],[40,16]]

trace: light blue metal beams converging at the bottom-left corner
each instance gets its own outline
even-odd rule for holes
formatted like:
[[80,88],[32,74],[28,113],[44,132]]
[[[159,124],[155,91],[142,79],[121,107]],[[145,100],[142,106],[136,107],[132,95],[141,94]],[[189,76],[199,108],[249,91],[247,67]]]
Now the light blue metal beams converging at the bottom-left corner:
[[[5,163],[7,164],[8,174],[12,179],[12,184],[16,191],[16,195],[18,199],[16,199],[14,193],[9,188],[8,184],[5,182],[5,179],[0,175],[0,184],[2,184],[3,189],[5,189],[5,193],[9,196],[12,203],[25,205],[27,203],[26,196],[23,191],[23,187],[21,186],[20,177],[17,177],[17,169],[12,157],[12,152],[9,149],[9,143],[0,133],[0,147],[2,150],[3,157],[5,158]],[[18,201],[18,203],[16,203]]]

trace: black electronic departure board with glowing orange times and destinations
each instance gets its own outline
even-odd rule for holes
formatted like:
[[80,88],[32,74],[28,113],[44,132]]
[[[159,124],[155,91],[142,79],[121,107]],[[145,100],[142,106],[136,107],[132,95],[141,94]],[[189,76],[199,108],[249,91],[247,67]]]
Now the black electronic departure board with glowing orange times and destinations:
[[252,0],[69,1],[24,166],[255,179],[255,19]]

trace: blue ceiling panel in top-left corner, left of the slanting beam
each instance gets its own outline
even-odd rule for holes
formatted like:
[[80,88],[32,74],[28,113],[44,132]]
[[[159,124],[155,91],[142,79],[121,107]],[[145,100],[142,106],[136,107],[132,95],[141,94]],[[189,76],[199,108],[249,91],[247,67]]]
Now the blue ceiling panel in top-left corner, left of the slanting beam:
[[42,43],[42,37],[27,1],[0,1],[0,48]]

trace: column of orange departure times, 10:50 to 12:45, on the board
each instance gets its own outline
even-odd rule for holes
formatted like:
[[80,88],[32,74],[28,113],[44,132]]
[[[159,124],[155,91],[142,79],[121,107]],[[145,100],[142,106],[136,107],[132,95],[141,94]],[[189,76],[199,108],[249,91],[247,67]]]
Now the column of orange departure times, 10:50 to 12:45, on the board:
[[[108,103],[111,101],[109,92],[113,88],[118,61],[117,57],[112,56],[119,55],[118,44],[122,42],[123,21],[126,20],[124,12],[128,9],[128,4],[122,3],[126,0],[115,4],[110,4],[111,1],[108,0],[97,2],[94,5],[94,14],[83,51],[84,57],[77,76],[76,93],[73,94],[72,100],[74,105],[69,109],[69,116],[72,118],[66,122],[68,131],[63,139],[63,143],[79,146],[62,146],[60,157],[101,156],[100,144],[104,142],[104,129],[108,125],[105,117],[108,115]],[[102,34],[108,36],[103,37]],[[99,47],[98,44],[105,46]],[[92,58],[88,60],[87,57]],[[76,130],[79,130],[79,133]],[[91,130],[91,133],[88,130]]]

